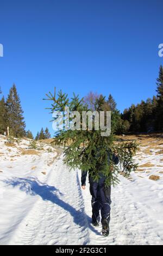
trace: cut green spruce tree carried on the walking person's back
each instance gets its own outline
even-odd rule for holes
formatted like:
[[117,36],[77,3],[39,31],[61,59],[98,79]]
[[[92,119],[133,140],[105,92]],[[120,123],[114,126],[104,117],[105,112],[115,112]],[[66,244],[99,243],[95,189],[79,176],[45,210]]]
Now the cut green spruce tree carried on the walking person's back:
[[[109,136],[101,136],[101,128],[95,129],[95,121],[92,124],[90,130],[87,122],[88,119],[83,121],[83,118],[79,119],[79,125],[77,125],[77,117],[73,117],[73,111],[78,111],[80,117],[82,117],[83,111],[87,111],[86,105],[83,105],[83,99],[75,94],[71,99],[68,99],[67,94],[61,91],[56,96],[52,93],[47,94],[48,100],[52,101],[51,112],[64,111],[65,107],[69,107],[70,111],[70,124],[74,123],[74,129],[59,130],[54,138],[54,144],[64,145],[65,151],[65,163],[71,169],[79,168],[82,171],[88,170],[93,180],[98,181],[99,172],[102,172],[106,177],[105,186],[118,183],[117,174],[121,170],[124,175],[129,175],[131,171],[136,170],[137,164],[133,160],[133,155],[137,149],[137,145],[134,142],[115,144],[114,143],[114,128]],[[105,98],[101,95],[96,100],[96,111],[106,111]],[[54,118],[54,121],[57,117]],[[91,119],[92,120],[92,119]],[[82,129],[82,126],[84,129]],[[81,128],[81,129],[79,129]],[[117,152],[120,157],[121,166],[115,166],[112,162],[112,154]],[[108,153],[110,153],[110,164],[108,163]]]

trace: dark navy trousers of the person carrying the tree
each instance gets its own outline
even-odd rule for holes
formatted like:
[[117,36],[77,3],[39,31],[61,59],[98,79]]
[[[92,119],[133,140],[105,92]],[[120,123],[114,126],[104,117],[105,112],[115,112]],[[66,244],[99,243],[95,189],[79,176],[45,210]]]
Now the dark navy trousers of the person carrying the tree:
[[99,223],[99,210],[101,210],[102,220],[106,218],[110,222],[111,187],[105,187],[103,179],[99,182],[90,181],[90,193],[92,196],[92,222]]

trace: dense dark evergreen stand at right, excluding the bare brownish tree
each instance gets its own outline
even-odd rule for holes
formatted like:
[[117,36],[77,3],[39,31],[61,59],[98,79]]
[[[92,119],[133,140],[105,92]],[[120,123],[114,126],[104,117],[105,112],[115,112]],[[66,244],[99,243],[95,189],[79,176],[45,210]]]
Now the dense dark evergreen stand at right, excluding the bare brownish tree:
[[156,80],[156,96],[136,106],[133,104],[124,109],[122,122],[126,122],[129,132],[163,131],[163,67],[160,66],[159,77]]

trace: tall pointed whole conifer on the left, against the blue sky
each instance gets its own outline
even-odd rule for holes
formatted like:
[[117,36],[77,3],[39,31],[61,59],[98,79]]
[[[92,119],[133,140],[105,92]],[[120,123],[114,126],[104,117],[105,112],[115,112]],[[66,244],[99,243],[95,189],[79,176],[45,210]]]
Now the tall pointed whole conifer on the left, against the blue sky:
[[7,101],[8,126],[14,137],[26,136],[23,110],[15,84],[11,87]]

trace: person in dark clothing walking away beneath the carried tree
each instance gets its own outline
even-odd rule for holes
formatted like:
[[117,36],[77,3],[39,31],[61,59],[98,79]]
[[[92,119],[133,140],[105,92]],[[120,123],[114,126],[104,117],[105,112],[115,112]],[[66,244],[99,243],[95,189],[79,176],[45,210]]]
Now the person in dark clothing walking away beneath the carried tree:
[[[101,151],[101,148],[97,148],[96,153],[94,154],[94,157],[96,157],[96,154],[99,154]],[[106,150],[107,151],[107,150]],[[114,164],[118,164],[119,159],[116,154],[112,154],[111,151],[107,151],[108,154],[108,163],[112,161]],[[111,159],[112,158],[112,159]],[[99,170],[103,168],[103,164],[101,167],[98,167]],[[86,186],[86,176],[87,171],[82,172],[82,188],[85,190]],[[104,236],[109,235],[109,222],[110,222],[110,205],[111,205],[111,187],[105,187],[105,176],[102,172],[99,171],[99,180],[98,182],[95,182],[91,175],[89,175],[89,183],[90,183],[90,193],[92,196],[92,225],[95,227],[99,227],[99,210],[101,210],[101,217],[102,217],[102,233]]]

